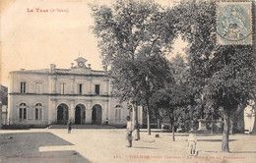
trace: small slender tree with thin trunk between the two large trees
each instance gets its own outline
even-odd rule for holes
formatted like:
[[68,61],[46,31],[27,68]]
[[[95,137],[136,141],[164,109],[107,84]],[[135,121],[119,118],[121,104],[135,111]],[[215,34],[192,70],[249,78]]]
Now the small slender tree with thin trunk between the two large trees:
[[165,86],[156,91],[152,102],[161,109],[163,115],[170,120],[172,128],[172,140],[175,141],[175,112],[178,108],[191,103],[191,89],[187,85],[187,66],[180,55],[177,55],[171,61],[171,69]]

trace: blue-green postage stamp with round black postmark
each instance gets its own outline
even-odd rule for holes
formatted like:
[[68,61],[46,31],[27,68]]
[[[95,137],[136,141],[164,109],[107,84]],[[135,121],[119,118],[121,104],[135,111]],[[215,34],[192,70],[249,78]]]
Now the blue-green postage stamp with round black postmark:
[[251,2],[217,3],[217,43],[252,44]]

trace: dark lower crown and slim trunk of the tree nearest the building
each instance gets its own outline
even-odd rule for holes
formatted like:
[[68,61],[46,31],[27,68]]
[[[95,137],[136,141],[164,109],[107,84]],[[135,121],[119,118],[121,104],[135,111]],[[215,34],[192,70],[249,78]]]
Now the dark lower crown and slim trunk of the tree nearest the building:
[[121,60],[115,64],[110,76],[115,87],[113,94],[121,101],[144,106],[150,131],[150,100],[155,91],[163,86],[168,71],[167,61],[159,56],[138,57],[135,60]]

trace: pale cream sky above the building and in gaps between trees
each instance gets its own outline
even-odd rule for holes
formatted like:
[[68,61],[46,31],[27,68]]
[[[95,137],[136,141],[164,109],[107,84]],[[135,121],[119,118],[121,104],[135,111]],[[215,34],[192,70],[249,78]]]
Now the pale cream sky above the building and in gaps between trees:
[[[1,1],[0,83],[8,86],[8,74],[21,69],[69,69],[79,56],[102,70],[89,3],[109,5],[113,0],[4,0]],[[155,0],[172,6],[174,0]],[[36,12],[48,10],[48,12]],[[33,10],[33,12],[32,12]],[[173,53],[186,43],[178,38]]]

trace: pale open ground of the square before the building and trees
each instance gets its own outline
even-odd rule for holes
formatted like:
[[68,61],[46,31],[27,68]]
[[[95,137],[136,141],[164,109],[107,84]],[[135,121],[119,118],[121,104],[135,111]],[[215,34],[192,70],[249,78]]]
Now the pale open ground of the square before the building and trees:
[[[56,136],[55,139],[63,140],[65,143],[56,143],[53,140],[48,143],[37,143],[32,146],[38,153],[47,153],[56,157],[63,155],[62,159],[55,159],[54,162],[248,162],[256,160],[256,136],[235,135],[229,136],[229,153],[222,153],[221,135],[198,135],[198,156],[189,156],[187,148],[187,134],[176,134],[176,141],[172,141],[171,134],[154,131],[148,136],[146,131],[141,132],[141,140],[133,141],[133,147],[126,147],[125,130],[73,130],[67,134],[66,130],[29,130],[29,131],[0,131],[4,134],[25,133],[28,136],[32,133],[47,133]],[[159,134],[160,137],[155,137]],[[43,136],[41,134],[41,136]],[[2,135],[3,137],[3,135]],[[52,137],[48,137],[52,138]],[[15,138],[14,138],[15,139]],[[45,138],[37,138],[37,141],[45,141]],[[17,144],[5,144],[15,146]],[[24,146],[28,145],[23,143]],[[2,144],[1,144],[2,146]],[[0,149],[1,151],[5,149]],[[30,148],[27,149],[30,151]],[[1,152],[0,151],[0,152]],[[16,151],[19,152],[19,151]],[[71,152],[71,153],[67,153]],[[30,152],[29,152],[30,153]],[[32,152],[31,152],[32,153]],[[35,153],[38,155],[38,153]],[[53,154],[51,154],[53,153]],[[73,153],[73,154],[72,154]],[[6,155],[0,153],[1,160]],[[16,153],[13,152],[13,155]],[[17,154],[16,154],[17,155]],[[29,154],[27,154],[29,155]],[[84,157],[84,158],[80,158]],[[28,162],[29,158],[23,158]],[[49,158],[40,159],[40,162],[49,162]],[[35,161],[34,161],[35,162]]]

